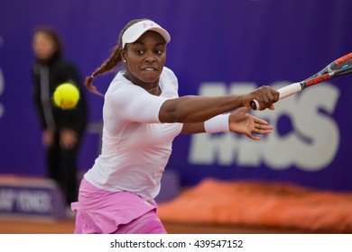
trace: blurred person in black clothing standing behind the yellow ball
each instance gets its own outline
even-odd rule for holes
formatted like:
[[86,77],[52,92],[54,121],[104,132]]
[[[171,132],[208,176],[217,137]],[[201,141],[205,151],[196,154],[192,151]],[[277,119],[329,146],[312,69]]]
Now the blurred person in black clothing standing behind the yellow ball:
[[[32,80],[35,108],[42,127],[47,175],[60,185],[67,205],[77,201],[79,144],[87,125],[87,104],[77,67],[62,57],[60,36],[49,26],[32,34],[35,62]],[[77,106],[62,110],[53,103],[53,92],[63,83],[79,88]]]

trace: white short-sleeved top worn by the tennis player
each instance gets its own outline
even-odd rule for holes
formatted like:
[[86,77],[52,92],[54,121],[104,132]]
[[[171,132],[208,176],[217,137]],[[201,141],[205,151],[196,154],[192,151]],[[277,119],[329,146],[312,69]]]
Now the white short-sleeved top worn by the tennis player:
[[146,200],[160,191],[162,172],[171,155],[172,140],[181,123],[161,123],[159,111],[178,97],[178,81],[163,67],[160,96],[134,85],[120,71],[105,94],[101,154],[84,177],[98,188],[136,193]]

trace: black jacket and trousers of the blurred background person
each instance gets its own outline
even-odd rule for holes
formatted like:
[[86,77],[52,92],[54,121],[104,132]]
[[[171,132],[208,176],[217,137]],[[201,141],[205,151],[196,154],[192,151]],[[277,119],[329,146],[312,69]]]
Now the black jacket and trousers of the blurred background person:
[[[66,203],[77,201],[78,177],[77,156],[79,144],[87,125],[86,97],[76,67],[54,54],[50,60],[37,59],[32,67],[34,102],[42,130],[51,129],[53,141],[46,148],[48,177],[55,180],[62,190]],[[73,109],[62,110],[53,103],[52,95],[62,83],[79,87],[79,103]],[[74,130],[77,142],[72,148],[60,146],[62,130]]]

